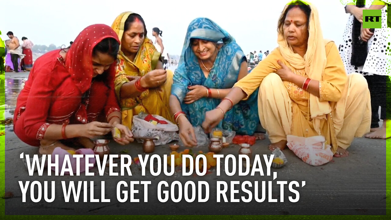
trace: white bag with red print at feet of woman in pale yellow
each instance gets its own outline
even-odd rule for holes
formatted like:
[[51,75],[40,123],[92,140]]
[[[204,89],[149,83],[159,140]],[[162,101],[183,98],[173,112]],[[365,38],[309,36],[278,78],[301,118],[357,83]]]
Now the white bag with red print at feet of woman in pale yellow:
[[287,146],[301,160],[312,166],[320,166],[330,162],[333,159],[331,146],[325,144],[325,137],[298,137],[287,135]]

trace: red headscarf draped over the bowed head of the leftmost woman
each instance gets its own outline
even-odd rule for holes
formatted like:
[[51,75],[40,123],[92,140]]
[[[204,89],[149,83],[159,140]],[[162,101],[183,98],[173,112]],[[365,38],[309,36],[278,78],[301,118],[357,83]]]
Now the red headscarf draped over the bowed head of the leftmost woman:
[[[120,43],[117,34],[110,26],[90,25],[80,32],[66,53],[65,67],[81,93],[90,88],[93,78],[92,50],[105,38],[114,38]],[[114,88],[115,66],[116,62],[113,62],[106,70],[108,74],[106,84],[109,88]]]

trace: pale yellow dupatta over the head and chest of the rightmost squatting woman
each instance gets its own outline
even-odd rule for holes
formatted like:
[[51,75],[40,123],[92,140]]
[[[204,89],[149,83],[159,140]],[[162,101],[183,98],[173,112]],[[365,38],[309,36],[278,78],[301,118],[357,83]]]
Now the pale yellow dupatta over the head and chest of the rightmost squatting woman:
[[[285,6],[280,19],[288,6],[289,4]],[[311,14],[308,25],[308,47],[304,58],[293,52],[292,47],[288,45],[287,41],[280,32],[278,33],[277,42],[280,47],[282,57],[291,64],[292,67],[295,69],[304,68],[310,79],[321,81],[327,62],[325,40],[323,39],[322,30],[320,28],[318,11],[314,5],[310,5],[310,7]],[[326,114],[331,112],[331,106],[328,101],[320,101],[318,97],[312,94],[310,94],[309,106],[311,118],[314,123],[314,129],[320,135],[320,121],[321,119],[325,119]]]

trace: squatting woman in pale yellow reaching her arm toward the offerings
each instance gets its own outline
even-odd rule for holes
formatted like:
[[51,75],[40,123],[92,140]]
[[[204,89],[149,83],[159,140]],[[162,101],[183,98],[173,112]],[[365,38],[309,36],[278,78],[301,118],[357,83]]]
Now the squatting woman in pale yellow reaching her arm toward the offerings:
[[278,22],[278,45],[214,110],[203,128],[210,130],[223,114],[256,88],[258,114],[269,133],[270,150],[284,149],[287,135],[323,135],[335,157],[348,156],[354,137],[369,132],[371,103],[360,74],[346,75],[337,46],[324,40],[317,9],[301,1],[285,6]]

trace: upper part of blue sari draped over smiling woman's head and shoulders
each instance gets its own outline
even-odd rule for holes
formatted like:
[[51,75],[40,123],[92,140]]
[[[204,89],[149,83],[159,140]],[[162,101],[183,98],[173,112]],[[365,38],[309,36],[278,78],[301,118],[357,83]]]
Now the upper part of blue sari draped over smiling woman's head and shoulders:
[[[192,38],[224,43],[204,84],[201,84],[204,74],[190,45]],[[235,39],[217,23],[209,18],[194,19],[187,28],[181,58],[174,74],[172,94],[182,102],[186,93],[189,92],[188,86],[204,85],[208,88],[231,88],[237,80],[240,64],[244,57],[244,53]]]

